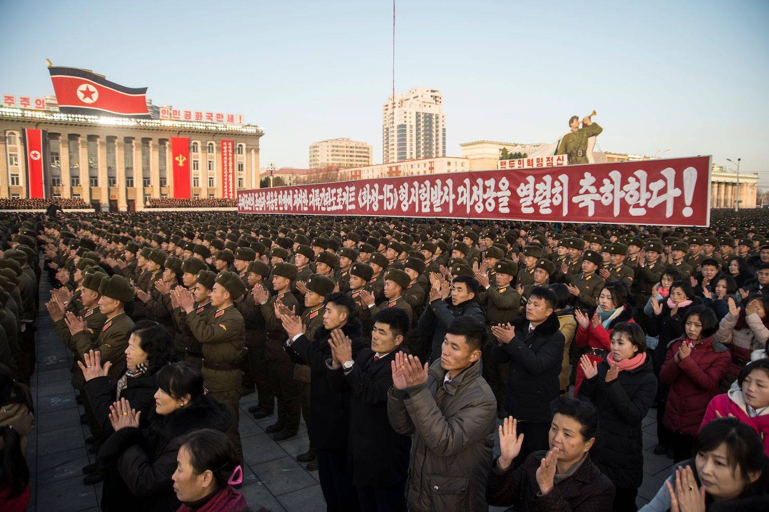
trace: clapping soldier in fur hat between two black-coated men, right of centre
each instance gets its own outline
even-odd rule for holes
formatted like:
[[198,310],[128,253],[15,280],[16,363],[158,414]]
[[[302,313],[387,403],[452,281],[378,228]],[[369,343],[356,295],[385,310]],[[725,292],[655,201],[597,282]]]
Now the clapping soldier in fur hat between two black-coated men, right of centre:
[[481,354],[483,376],[497,399],[498,417],[504,418],[508,416],[504,408],[506,403],[504,397],[510,365],[509,363],[497,363],[491,357],[491,347],[498,343],[496,338],[491,335],[491,326],[499,323],[511,323],[518,316],[518,310],[521,307],[521,295],[511,286],[515,275],[513,262],[508,259],[500,259],[495,270],[494,283],[490,283],[488,277],[481,271],[475,273],[475,279],[478,279],[478,283],[484,289],[478,294],[478,304],[486,310],[486,330],[488,331],[488,343],[482,347]]

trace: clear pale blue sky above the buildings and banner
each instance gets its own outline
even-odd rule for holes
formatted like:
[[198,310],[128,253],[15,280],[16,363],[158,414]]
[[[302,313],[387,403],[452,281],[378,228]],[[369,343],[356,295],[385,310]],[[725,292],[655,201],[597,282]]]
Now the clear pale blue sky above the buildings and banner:
[[[392,3],[0,0],[0,93],[52,94],[45,59],[148,86],[156,105],[238,112],[261,166],[363,140],[381,162]],[[741,157],[769,186],[769,2],[438,2],[397,6],[396,92],[440,89],[447,154],[553,142],[598,111],[604,151]]]

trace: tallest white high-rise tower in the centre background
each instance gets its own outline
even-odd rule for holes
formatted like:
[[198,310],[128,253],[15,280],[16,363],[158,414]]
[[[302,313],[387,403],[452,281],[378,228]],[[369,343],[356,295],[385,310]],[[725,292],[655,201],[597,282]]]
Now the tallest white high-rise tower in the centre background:
[[409,89],[382,105],[382,161],[446,156],[446,116],[438,89]]

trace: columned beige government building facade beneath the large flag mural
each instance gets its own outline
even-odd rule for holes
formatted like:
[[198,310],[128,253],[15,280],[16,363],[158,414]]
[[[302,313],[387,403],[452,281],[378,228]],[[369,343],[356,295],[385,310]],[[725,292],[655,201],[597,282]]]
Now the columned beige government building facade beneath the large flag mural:
[[[191,199],[222,198],[221,141],[232,141],[235,190],[259,187],[256,125],[130,119],[0,106],[0,198],[27,198],[24,129],[45,131],[45,197],[80,198],[95,209],[143,209],[173,198],[171,138],[189,138]],[[228,143],[225,144],[225,151]],[[183,161],[183,160],[180,160]]]

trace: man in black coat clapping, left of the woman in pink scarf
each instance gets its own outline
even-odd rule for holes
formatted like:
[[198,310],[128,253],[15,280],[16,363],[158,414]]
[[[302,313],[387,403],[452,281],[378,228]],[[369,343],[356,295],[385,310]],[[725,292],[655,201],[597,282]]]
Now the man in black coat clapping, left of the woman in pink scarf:
[[518,432],[524,444],[514,461],[523,463],[528,454],[548,450],[550,403],[560,396],[561,362],[564,335],[554,314],[558,299],[544,286],[531,289],[526,315],[507,326],[492,326],[498,343],[491,357],[498,363],[510,363],[508,373],[508,412],[518,420]]

